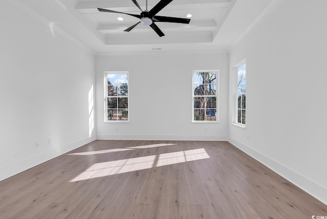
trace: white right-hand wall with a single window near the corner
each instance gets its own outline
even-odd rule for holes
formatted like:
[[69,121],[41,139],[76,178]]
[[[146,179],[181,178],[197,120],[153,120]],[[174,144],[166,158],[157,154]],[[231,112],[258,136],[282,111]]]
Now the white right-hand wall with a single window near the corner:
[[246,129],[230,125],[230,114],[230,142],[324,203],[326,8],[327,1],[273,0],[229,56],[230,72],[247,61]]

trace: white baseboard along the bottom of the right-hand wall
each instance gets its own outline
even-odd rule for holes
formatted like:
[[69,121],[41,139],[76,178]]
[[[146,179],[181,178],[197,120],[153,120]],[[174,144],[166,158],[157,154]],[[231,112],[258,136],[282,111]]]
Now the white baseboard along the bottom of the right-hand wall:
[[228,141],[229,143],[235,145],[235,147],[239,148],[249,156],[253,157],[255,160],[258,160],[259,162],[272,169],[272,171],[274,171],[278,175],[281,175],[300,189],[306,191],[307,193],[311,194],[311,196],[315,197],[316,199],[327,205],[327,188],[324,188],[323,186],[313,182],[311,179],[308,179],[307,177],[292,171],[292,169],[261,154],[260,152],[249,148],[247,145],[241,143],[240,141],[234,138],[229,137]]

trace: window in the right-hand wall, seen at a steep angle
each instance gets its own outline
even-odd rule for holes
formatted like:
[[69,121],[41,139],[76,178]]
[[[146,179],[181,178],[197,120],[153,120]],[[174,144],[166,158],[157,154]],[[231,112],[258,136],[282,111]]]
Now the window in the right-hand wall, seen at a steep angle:
[[236,121],[238,125],[245,126],[246,118],[246,63],[237,67],[236,71]]

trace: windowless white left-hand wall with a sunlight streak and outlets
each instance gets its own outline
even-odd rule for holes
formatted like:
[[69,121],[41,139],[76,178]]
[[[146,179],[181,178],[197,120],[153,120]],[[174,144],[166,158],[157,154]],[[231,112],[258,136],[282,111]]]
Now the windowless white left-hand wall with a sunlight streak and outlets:
[[0,180],[96,136],[94,54],[32,15],[0,1]]

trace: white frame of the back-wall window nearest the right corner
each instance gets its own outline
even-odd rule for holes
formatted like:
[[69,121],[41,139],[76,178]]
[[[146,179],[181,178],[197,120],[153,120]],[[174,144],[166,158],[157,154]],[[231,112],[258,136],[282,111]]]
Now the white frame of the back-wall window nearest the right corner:
[[[194,98],[196,95],[194,95],[194,74],[196,72],[216,72],[216,95],[210,95],[216,97],[216,120],[194,120]],[[207,95],[204,95],[207,96]],[[206,106],[204,108],[206,110]],[[192,123],[219,123],[219,69],[215,70],[193,70],[192,71]]]

